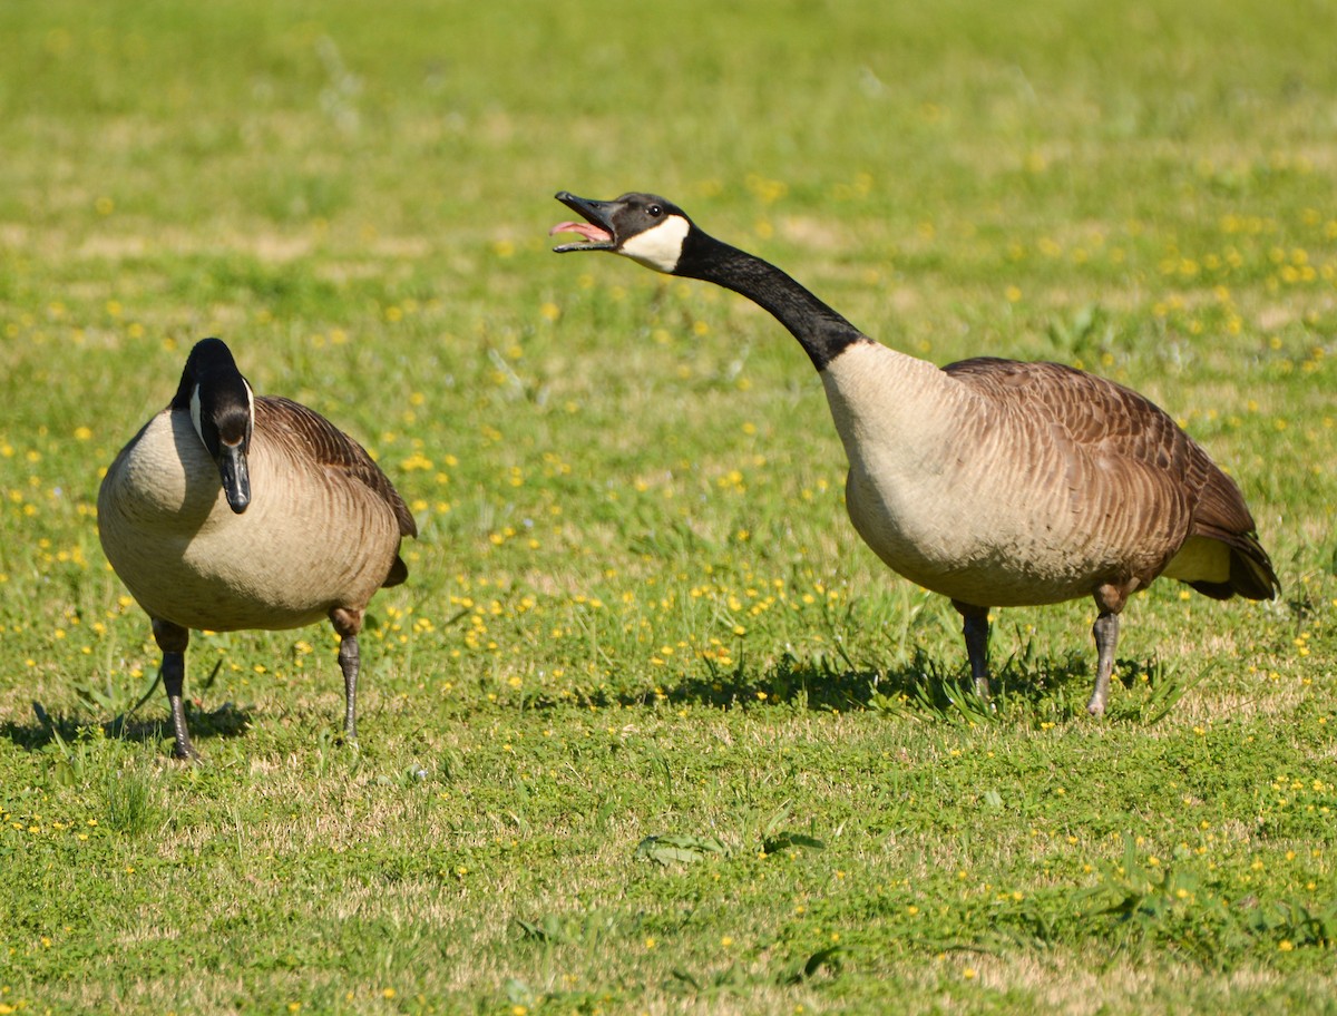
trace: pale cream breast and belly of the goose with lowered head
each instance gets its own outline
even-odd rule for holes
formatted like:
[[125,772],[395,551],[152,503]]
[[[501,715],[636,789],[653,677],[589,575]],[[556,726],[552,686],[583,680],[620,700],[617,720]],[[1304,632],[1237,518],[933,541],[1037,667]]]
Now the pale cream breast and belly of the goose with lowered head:
[[293,628],[372,598],[398,548],[388,511],[358,489],[342,492],[346,504],[289,483],[253,445],[251,503],[237,515],[190,421],[183,441],[174,416],[122,453],[98,503],[107,559],[148,614],[213,631]]

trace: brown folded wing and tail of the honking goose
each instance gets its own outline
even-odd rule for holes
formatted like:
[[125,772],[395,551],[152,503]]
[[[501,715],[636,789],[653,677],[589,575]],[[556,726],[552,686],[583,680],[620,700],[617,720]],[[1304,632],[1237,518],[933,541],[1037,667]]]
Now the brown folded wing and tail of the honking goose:
[[977,357],[943,370],[991,400],[1043,416],[1096,457],[1140,467],[1163,489],[1166,504],[1186,513],[1183,539],[1203,536],[1231,551],[1230,580],[1191,583],[1199,592],[1271,599],[1280,591],[1235,481],[1151,400],[1062,364]]

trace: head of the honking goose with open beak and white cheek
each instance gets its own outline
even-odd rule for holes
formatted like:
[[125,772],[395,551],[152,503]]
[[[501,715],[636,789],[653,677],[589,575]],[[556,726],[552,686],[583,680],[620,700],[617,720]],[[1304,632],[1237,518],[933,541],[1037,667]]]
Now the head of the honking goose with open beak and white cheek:
[[591,201],[562,191],[556,198],[586,219],[560,222],[548,230],[550,237],[555,233],[579,233],[584,237],[583,242],[558,245],[554,247],[558,254],[610,250],[655,271],[679,274],[683,250],[697,229],[687,213],[677,205],[654,194],[623,194],[616,201]]

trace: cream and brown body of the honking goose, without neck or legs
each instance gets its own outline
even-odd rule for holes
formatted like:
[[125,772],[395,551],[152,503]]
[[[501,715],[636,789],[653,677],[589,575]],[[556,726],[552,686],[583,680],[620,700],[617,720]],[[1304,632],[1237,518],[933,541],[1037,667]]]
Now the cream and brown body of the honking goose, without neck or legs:
[[[1087,596],[1092,578],[1128,592],[1158,575],[1203,591],[1230,582],[1231,544],[1205,533],[1247,533],[1253,520],[1233,481],[1152,402],[1059,364],[924,366],[864,342],[822,372],[850,465],[850,519],[894,571],[993,607]],[[1270,595],[1269,569],[1250,568],[1247,539],[1235,543],[1246,592]]]

